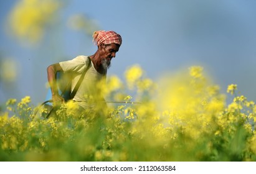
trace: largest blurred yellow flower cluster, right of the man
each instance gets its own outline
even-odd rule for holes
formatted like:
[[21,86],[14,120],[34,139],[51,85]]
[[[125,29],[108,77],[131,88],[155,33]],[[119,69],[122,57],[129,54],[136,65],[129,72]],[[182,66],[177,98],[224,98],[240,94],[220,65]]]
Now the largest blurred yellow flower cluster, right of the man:
[[[192,66],[189,75],[181,71],[177,75],[163,76],[158,82],[156,96],[156,104],[163,115],[171,113],[169,121],[165,116],[161,117],[162,122],[169,122],[169,129],[182,127],[183,132],[193,139],[209,131],[209,125],[214,124],[212,117],[225,107],[225,97],[219,93],[219,86],[212,84],[211,78],[206,78],[202,70],[200,66]],[[173,134],[172,138],[175,136]]]

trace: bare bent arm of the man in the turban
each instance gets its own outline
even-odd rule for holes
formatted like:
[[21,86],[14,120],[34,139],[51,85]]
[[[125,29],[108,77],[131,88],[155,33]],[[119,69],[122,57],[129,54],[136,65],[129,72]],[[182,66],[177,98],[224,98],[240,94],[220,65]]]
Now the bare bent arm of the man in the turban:
[[52,101],[54,104],[60,104],[64,102],[64,98],[59,95],[57,88],[57,72],[63,71],[59,63],[55,63],[47,67],[47,78],[52,91]]

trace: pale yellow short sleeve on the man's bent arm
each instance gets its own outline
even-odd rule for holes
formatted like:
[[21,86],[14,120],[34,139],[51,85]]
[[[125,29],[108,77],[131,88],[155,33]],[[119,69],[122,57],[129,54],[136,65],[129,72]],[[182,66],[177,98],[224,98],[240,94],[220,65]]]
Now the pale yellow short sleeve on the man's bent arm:
[[62,70],[64,73],[66,72],[73,72],[73,73],[82,73],[85,68],[87,68],[88,65],[88,59],[87,56],[79,55],[72,60],[60,62],[60,66],[62,67]]

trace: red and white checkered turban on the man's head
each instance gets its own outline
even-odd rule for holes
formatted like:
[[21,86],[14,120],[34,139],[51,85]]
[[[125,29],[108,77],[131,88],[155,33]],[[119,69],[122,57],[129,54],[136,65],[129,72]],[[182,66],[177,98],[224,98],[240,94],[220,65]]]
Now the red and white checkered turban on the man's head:
[[100,43],[103,44],[110,44],[110,43],[117,43],[121,46],[122,39],[121,35],[117,34],[114,31],[105,31],[105,30],[99,30],[95,31],[92,35],[93,37],[93,43],[97,46],[100,45]]

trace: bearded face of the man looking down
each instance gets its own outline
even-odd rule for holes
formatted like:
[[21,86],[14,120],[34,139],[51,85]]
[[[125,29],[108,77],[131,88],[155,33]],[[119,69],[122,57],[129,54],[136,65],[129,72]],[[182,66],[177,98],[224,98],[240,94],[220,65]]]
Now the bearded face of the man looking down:
[[111,65],[111,59],[116,56],[120,45],[111,43],[108,45],[102,45],[102,66],[103,68],[109,68]]

